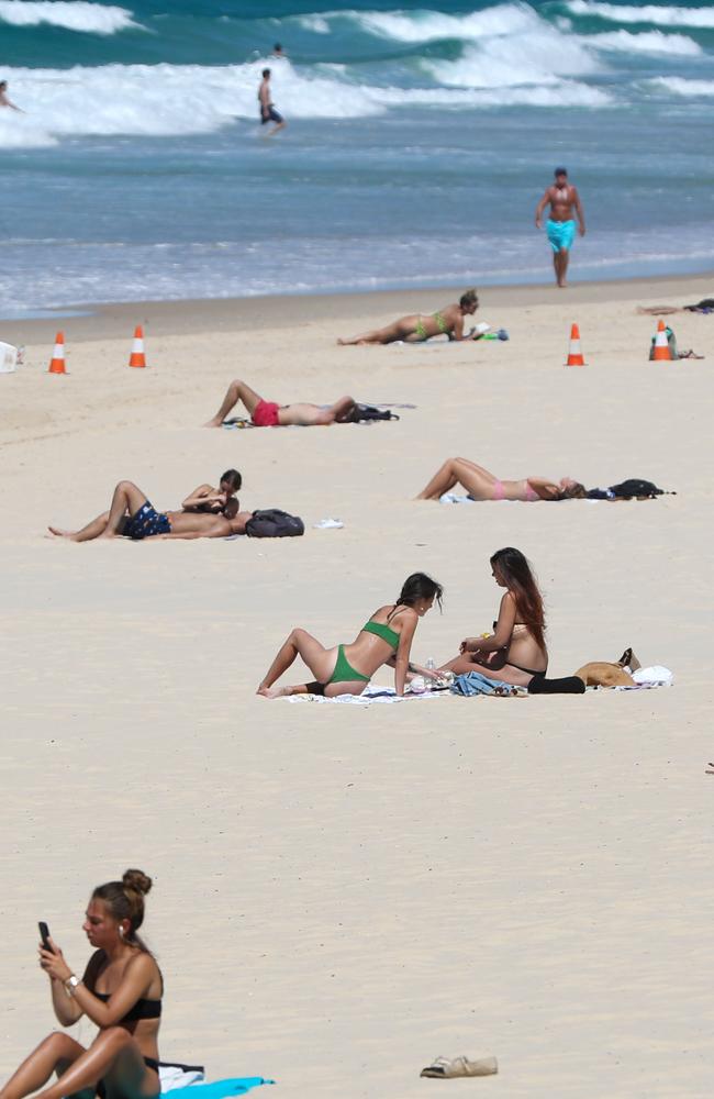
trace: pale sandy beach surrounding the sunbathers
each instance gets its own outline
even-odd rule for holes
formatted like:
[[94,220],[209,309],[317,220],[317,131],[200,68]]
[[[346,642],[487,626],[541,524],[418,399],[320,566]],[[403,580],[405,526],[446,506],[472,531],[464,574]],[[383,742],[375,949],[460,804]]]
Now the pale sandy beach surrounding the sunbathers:
[[[81,970],[92,886],[137,866],[155,879],[161,1056],[209,1078],[261,1075],[305,1099],[711,1092],[714,318],[669,318],[705,357],[657,364],[656,319],[636,307],[713,288],[480,288],[476,320],[510,340],[454,345],[336,340],[465,288],[0,324],[26,347],[0,376],[0,1077],[54,1024],[37,920]],[[564,367],[572,322],[582,369]],[[130,370],[138,323],[148,368]],[[54,377],[60,329],[69,373]],[[415,408],[371,425],[201,428],[236,377],[280,403]],[[453,455],[502,478],[644,477],[677,495],[414,501]],[[122,478],[175,508],[233,466],[243,508],[299,514],[305,536],[45,537],[107,509]],[[313,529],[327,517],[344,529]],[[538,575],[550,674],[632,645],[674,686],[368,708],[255,696],[291,626],[349,641],[417,569],[445,601],[414,655],[455,655],[491,625],[504,545]],[[298,664],[287,681],[305,678]],[[499,1075],[419,1078],[461,1053],[494,1054]]]

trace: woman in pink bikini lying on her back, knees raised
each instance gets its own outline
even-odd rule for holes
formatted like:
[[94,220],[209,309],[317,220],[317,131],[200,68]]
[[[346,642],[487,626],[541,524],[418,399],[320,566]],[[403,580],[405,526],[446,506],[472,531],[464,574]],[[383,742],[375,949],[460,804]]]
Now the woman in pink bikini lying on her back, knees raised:
[[581,500],[585,496],[584,486],[571,477],[562,477],[557,485],[547,477],[502,481],[468,458],[447,458],[416,499],[438,500],[456,485],[462,485],[472,500]]

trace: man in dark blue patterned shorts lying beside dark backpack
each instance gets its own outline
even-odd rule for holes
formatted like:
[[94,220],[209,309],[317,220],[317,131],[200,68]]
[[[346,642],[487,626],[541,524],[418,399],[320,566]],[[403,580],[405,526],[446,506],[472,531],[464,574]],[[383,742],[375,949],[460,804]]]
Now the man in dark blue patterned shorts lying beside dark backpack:
[[245,524],[252,514],[250,511],[241,511],[228,519],[211,512],[158,512],[133,481],[120,481],[109,511],[102,512],[81,530],[65,531],[58,526],[48,526],[47,530],[71,542],[120,536],[134,542],[144,539],[224,539],[228,534],[245,533]]

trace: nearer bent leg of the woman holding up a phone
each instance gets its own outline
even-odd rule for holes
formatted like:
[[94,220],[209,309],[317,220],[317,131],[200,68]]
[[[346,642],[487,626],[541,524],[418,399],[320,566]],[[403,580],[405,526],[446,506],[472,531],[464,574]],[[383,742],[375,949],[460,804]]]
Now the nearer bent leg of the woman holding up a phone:
[[158,1076],[147,1068],[135,1039],[123,1026],[110,1026],[36,1099],[63,1099],[99,1080],[104,1080],[109,1096],[118,1091],[149,1099],[159,1092]]

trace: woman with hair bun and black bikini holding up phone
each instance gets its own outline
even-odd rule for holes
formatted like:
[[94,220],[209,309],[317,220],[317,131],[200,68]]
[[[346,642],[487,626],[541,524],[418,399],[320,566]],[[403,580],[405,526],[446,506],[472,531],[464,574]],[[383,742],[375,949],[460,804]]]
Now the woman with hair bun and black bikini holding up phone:
[[[152,879],[126,870],[121,881],[94,889],[83,931],[96,948],[78,978],[56,945],[40,947],[49,977],[52,1004],[63,1026],[87,1015],[99,1028],[89,1048],[57,1031],[40,1043],[0,1091],[0,1099],[108,1096],[155,1099],[160,1091],[157,1036],[164,981],[156,961],[136,934]],[[57,1083],[45,1085],[57,1074]],[[43,1090],[44,1089],[44,1090]]]

